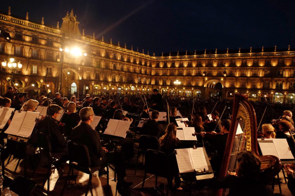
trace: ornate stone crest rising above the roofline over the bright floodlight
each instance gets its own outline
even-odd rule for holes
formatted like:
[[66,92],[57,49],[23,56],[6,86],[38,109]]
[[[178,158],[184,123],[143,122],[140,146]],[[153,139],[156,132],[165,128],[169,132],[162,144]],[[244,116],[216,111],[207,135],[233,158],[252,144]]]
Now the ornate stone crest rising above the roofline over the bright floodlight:
[[78,27],[80,22],[77,21],[77,15],[74,16],[73,9],[70,15],[69,12],[67,12],[67,15],[62,20],[63,22],[60,29],[65,34],[65,36],[74,39],[80,39],[81,33]]

